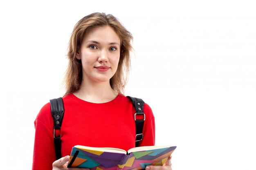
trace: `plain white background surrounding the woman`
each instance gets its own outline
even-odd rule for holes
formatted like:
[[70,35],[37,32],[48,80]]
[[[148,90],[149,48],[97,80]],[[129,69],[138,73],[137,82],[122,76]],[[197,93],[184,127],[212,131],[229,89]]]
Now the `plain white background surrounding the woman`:
[[34,120],[64,93],[74,24],[111,13],[133,34],[125,95],[148,103],[173,170],[255,170],[255,0],[0,2],[0,162],[31,169]]

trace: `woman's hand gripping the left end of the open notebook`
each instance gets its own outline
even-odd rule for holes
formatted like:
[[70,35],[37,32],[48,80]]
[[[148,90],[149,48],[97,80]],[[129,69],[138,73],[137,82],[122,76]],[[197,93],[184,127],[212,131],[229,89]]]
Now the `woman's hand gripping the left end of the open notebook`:
[[89,170],[87,168],[67,168],[67,163],[70,160],[70,156],[62,157],[52,163],[52,170]]

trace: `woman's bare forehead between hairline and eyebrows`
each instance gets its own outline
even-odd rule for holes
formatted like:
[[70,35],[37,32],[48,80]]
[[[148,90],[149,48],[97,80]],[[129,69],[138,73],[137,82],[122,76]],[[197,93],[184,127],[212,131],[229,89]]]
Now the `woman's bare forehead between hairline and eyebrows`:
[[111,26],[96,26],[89,29],[84,36],[84,41],[97,41],[112,43],[117,42],[120,44],[119,35]]

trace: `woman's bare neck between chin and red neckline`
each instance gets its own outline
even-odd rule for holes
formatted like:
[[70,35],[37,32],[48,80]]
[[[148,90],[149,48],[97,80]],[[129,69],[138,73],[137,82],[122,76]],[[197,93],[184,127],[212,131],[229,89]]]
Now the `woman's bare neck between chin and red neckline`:
[[81,86],[74,95],[82,100],[91,103],[106,103],[115,99],[118,95],[114,91],[110,82],[90,82],[82,81]]

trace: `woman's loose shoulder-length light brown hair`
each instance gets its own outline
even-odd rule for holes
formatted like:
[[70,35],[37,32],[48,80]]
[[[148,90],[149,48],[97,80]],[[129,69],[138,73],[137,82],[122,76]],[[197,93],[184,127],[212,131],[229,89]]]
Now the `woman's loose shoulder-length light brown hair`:
[[85,33],[88,31],[88,29],[95,26],[105,25],[111,26],[117,35],[119,35],[121,40],[120,59],[117,71],[110,79],[110,86],[118,93],[124,93],[124,87],[126,86],[130,71],[130,52],[132,51],[131,41],[133,40],[132,34],[113,15],[106,15],[105,13],[92,13],[76,23],[70,37],[67,50],[67,58],[69,62],[64,78],[66,88],[65,95],[79,90],[82,82],[82,64],[81,60],[76,59],[76,52],[78,51],[79,46],[82,44]]

